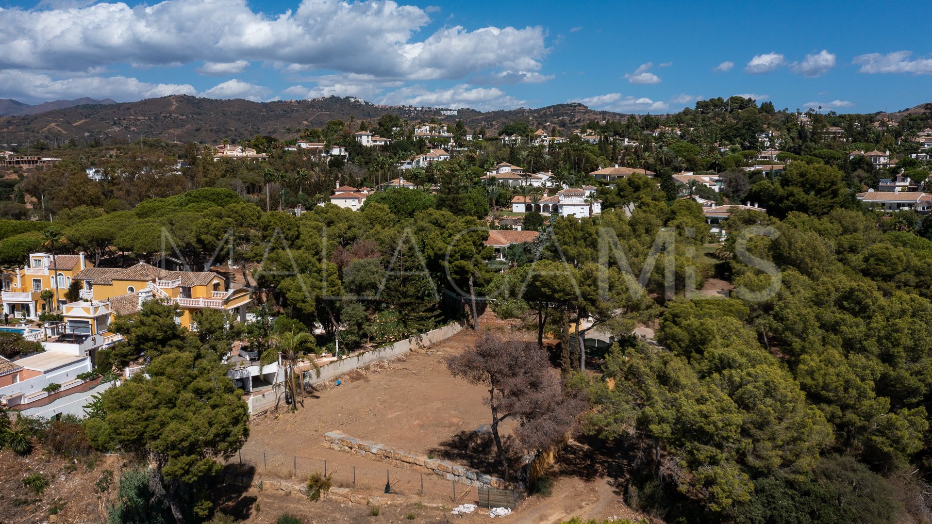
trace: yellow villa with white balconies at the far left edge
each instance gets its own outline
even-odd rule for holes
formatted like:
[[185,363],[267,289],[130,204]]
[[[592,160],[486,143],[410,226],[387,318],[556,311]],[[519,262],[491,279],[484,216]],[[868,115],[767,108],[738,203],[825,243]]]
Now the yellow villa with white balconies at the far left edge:
[[92,267],[93,264],[85,259],[83,253],[56,255],[54,263],[49,253],[29,255],[26,267],[3,273],[3,312],[13,318],[34,320],[42,311],[55,310],[40,297],[47,289],[52,292],[58,289],[59,305],[63,306],[67,302],[65,293],[75,280],[75,275]]

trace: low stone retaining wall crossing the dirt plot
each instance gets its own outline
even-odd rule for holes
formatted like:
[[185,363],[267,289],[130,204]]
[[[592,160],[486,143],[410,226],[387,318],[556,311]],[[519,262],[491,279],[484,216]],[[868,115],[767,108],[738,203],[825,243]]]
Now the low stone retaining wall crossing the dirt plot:
[[475,486],[476,488],[497,488],[500,490],[514,489],[498,476],[489,476],[465,466],[455,465],[439,459],[428,459],[426,455],[407,453],[399,449],[392,449],[384,444],[376,444],[368,440],[359,440],[348,434],[338,431],[323,434],[324,443],[337,451],[348,451],[363,457],[377,457],[386,462],[413,467],[424,473],[441,476],[446,480]]

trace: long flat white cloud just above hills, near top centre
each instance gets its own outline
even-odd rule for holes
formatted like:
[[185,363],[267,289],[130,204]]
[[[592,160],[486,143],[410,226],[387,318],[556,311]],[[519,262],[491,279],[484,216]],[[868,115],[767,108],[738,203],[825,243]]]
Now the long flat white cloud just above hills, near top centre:
[[381,103],[390,105],[428,105],[459,109],[514,109],[526,102],[509,96],[499,88],[473,88],[459,84],[452,88],[428,90],[424,86],[410,86],[386,93]]

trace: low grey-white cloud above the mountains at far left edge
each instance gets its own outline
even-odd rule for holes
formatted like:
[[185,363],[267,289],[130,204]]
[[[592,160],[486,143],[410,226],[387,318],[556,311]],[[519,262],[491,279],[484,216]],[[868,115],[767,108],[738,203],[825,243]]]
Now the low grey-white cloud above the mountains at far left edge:
[[93,95],[117,102],[156,98],[170,94],[197,94],[188,84],[152,84],[126,76],[77,76],[55,79],[30,71],[0,71],[0,92],[28,101],[72,99]]

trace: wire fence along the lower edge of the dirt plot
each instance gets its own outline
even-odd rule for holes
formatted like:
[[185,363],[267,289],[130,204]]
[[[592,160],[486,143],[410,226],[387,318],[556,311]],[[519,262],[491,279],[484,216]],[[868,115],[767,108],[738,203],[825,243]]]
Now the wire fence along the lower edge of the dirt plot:
[[[391,493],[398,495],[419,495],[442,503],[487,503],[487,490],[482,497],[475,486],[445,480],[430,473],[421,473],[413,469],[399,467],[393,464],[381,465],[378,463],[359,464],[359,461],[349,460],[332,461],[314,459],[299,455],[280,455],[259,450],[240,450],[240,453],[227,463],[249,465],[255,472],[279,478],[295,479],[298,482],[307,481],[308,476],[320,473],[330,476],[336,488],[350,488],[354,490]],[[356,463],[352,463],[356,462]],[[232,474],[226,477],[226,482],[244,485],[252,482],[251,477],[244,474]],[[508,491],[511,493],[511,491]],[[514,495],[514,500],[517,496]]]

